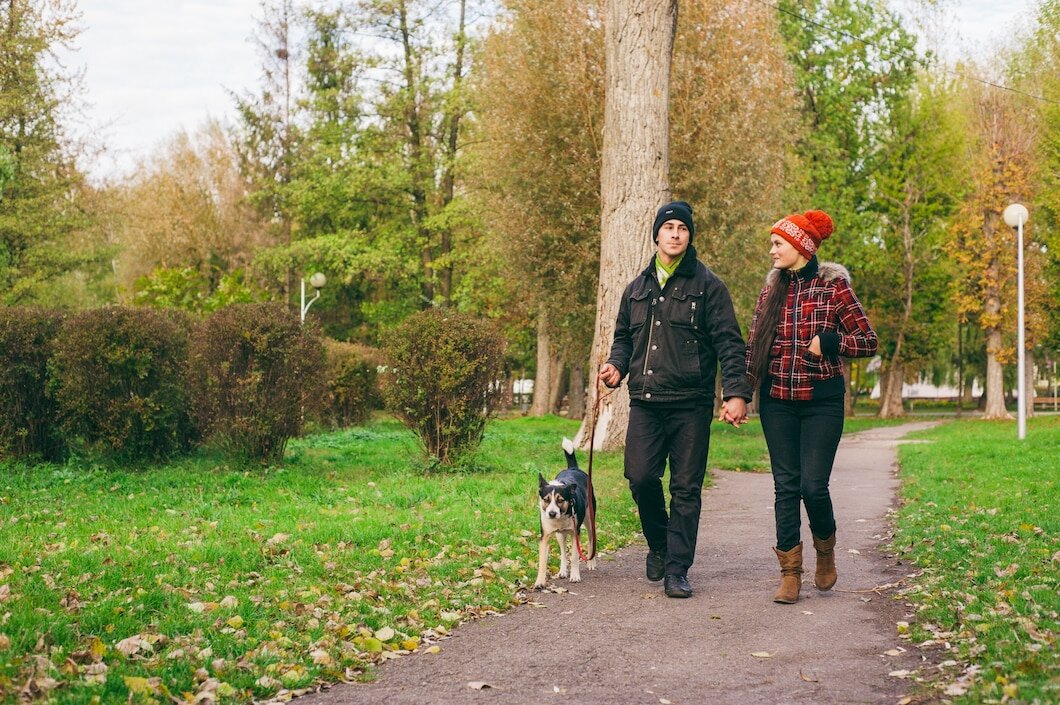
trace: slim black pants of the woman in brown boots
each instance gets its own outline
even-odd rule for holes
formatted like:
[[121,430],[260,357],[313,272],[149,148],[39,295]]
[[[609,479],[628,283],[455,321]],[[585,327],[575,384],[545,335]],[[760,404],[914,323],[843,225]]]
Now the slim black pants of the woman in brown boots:
[[760,400],[776,491],[777,549],[790,550],[801,540],[799,499],[806,503],[810,530],[828,539],[835,533],[828,480],[843,436],[843,396],[801,402],[764,393]]

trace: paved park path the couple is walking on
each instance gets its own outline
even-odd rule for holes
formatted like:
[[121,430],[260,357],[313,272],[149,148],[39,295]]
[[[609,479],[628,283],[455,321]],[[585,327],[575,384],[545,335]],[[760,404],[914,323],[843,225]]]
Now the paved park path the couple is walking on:
[[[906,615],[872,588],[909,572],[879,549],[896,504],[896,446],[931,425],[844,438],[831,483],[840,580],[830,593],[813,586],[803,523],[802,598],[772,602],[779,583],[772,477],[716,472],[689,571],[691,599],[667,599],[661,583],[648,582],[643,545],[634,545],[583,571],[582,583],[553,583],[569,593],[531,594],[536,606],[463,624],[438,654],[389,662],[374,683],[298,703],[894,705],[907,683],[888,672],[914,668],[917,655],[884,655],[905,646],[895,622]],[[474,689],[474,682],[490,687]]]

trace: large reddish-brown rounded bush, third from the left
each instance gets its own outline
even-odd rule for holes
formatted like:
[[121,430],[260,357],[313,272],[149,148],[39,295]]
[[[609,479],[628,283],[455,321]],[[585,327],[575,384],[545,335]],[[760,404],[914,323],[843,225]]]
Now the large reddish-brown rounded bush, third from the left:
[[280,303],[222,309],[192,342],[193,408],[207,441],[279,460],[323,394],[324,350],[311,322]]

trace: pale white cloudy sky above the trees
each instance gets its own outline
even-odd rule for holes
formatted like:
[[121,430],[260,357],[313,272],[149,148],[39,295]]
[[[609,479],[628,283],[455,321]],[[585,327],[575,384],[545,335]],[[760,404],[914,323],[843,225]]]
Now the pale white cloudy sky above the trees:
[[[898,8],[917,0],[890,0]],[[75,133],[105,153],[86,164],[116,177],[175,133],[209,117],[231,118],[229,90],[252,89],[261,73],[251,37],[260,0],[80,0],[76,52],[85,116]],[[1029,17],[1032,0],[943,0],[943,51],[985,53]],[[82,124],[83,123],[83,124]]]

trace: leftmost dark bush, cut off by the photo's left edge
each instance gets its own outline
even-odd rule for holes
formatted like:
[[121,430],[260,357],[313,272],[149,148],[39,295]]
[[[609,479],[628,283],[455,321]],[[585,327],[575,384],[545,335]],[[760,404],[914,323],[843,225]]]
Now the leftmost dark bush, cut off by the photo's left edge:
[[61,325],[57,311],[0,309],[0,456],[63,456],[57,406],[47,394],[48,360]]

